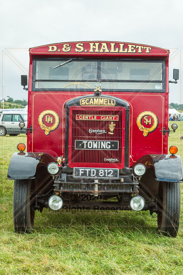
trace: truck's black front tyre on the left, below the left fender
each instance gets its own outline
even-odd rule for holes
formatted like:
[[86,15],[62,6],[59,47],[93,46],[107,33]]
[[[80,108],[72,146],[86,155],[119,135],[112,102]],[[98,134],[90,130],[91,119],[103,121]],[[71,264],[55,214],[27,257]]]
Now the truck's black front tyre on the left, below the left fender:
[[15,232],[31,233],[34,228],[34,214],[31,193],[32,180],[15,180],[13,188],[13,223]]

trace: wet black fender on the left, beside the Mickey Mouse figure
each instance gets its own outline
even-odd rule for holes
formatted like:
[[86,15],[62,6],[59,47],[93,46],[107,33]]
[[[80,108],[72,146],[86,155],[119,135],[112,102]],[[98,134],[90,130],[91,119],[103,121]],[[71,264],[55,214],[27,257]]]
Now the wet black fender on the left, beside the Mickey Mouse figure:
[[10,180],[34,179],[37,175],[39,178],[49,178],[51,175],[47,172],[47,166],[50,162],[57,161],[48,153],[14,153],[9,163],[7,177]]

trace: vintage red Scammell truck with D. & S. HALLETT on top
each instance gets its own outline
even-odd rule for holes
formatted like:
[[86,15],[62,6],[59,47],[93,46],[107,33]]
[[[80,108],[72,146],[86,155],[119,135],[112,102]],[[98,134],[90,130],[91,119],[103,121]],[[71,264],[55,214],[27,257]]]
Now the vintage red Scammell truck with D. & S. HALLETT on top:
[[175,237],[183,171],[168,148],[168,85],[179,78],[174,69],[168,80],[169,50],[86,41],[29,54],[27,152],[18,144],[8,170],[15,231],[31,232],[44,207],[150,210]]

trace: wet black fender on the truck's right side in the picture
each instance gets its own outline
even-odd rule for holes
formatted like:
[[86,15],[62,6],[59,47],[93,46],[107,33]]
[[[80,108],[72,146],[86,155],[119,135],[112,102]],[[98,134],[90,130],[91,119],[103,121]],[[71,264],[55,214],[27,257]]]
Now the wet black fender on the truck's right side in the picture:
[[182,160],[179,155],[166,155],[166,154],[145,155],[139,160],[137,160],[136,163],[132,166],[132,168],[138,163],[142,163],[146,166],[146,173],[148,169],[152,169],[154,171],[154,179],[157,181],[167,181],[167,182],[183,181]]

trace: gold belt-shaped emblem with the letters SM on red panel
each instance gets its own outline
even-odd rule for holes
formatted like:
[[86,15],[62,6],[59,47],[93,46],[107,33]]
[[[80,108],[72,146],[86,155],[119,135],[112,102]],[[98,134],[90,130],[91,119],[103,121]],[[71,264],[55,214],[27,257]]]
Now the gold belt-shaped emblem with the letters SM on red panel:
[[150,132],[156,130],[158,123],[158,117],[150,111],[142,112],[137,118],[137,125],[140,131],[144,132],[143,135],[145,137],[147,137]]

